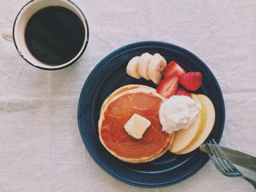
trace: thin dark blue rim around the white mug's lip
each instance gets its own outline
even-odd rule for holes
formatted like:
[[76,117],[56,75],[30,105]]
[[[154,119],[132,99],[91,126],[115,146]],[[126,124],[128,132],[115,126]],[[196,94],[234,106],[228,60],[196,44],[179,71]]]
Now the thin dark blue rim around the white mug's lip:
[[89,27],[88,27],[88,21],[84,15],[84,13],[82,12],[82,10],[72,1],[70,0],[66,0],[68,1],[69,3],[73,4],[74,6],[76,6],[77,10],[79,10],[79,12],[83,15],[83,18],[84,18],[84,22],[85,22],[85,25],[86,25],[86,39],[85,40],[85,45],[84,45],[84,48],[83,48],[83,51],[79,54],[79,56],[76,58],[76,60],[72,61],[71,63],[69,63],[68,65],[65,65],[63,67],[58,67],[58,68],[46,68],[46,67],[39,67],[39,66],[36,66],[36,65],[33,65],[33,63],[29,62],[25,57],[24,55],[21,54],[21,52],[19,51],[19,48],[17,47],[17,44],[16,44],[16,41],[15,41],[15,35],[14,35],[14,30],[15,30],[15,24],[16,24],[16,20],[17,18],[19,17],[20,15],[20,12],[29,4],[29,3],[32,3],[33,1],[36,1],[36,0],[31,0],[29,1],[28,3],[26,3],[22,8],[21,10],[19,11],[19,13],[17,14],[15,20],[14,20],[14,23],[13,23],[13,30],[12,30],[12,35],[13,35],[13,42],[14,42],[14,45],[17,49],[17,51],[19,52],[20,56],[25,60],[27,61],[30,65],[32,65],[33,67],[36,67],[36,68],[40,68],[40,69],[44,69],[44,70],[60,70],[62,68],[66,68],[70,65],[72,65],[73,63],[76,63],[77,60],[79,60],[79,58],[81,58],[81,56],[83,55],[87,45],[88,45],[88,41],[89,41]]

